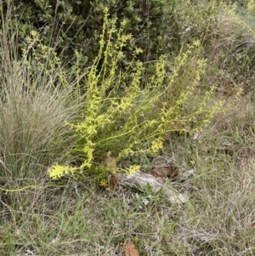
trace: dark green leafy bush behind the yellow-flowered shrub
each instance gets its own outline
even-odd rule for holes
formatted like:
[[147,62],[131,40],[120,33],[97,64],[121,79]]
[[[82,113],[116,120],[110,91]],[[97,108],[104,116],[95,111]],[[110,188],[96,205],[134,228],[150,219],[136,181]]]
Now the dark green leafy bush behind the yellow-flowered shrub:
[[125,18],[125,32],[133,34],[133,40],[124,49],[122,65],[125,65],[132,59],[134,48],[143,49],[139,56],[142,61],[156,60],[160,54],[179,49],[177,2],[13,0],[3,2],[3,14],[8,14],[13,29],[18,28],[20,46],[31,30],[37,30],[44,43],[56,47],[59,54],[69,58],[78,49],[87,55],[86,60],[92,61],[99,49],[106,7],[110,19],[118,18],[116,27]]

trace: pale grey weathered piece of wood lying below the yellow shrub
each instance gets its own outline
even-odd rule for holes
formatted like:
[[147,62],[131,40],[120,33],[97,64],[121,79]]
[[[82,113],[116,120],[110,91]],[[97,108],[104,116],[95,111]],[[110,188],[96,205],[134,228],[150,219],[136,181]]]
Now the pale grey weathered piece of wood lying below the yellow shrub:
[[186,196],[178,193],[178,191],[173,191],[173,189],[170,190],[161,179],[156,179],[156,177],[150,174],[145,174],[142,172],[131,175],[119,174],[119,184],[138,190],[141,187],[146,187],[147,184],[150,184],[152,192],[156,193],[163,189],[165,195],[167,196],[167,199],[173,203],[183,203],[187,201]]

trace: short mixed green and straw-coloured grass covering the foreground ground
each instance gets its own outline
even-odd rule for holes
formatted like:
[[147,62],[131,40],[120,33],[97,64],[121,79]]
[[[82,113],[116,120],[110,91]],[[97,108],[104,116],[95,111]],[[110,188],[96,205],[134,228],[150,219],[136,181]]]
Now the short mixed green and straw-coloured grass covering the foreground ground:
[[[214,65],[210,79],[219,79],[218,88],[228,90],[224,82],[231,73]],[[214,96],[221,97],[221,91]],[[195,166],[194,178],[175,185],[189,189],[184,205],[173,205],[150,189],[140,193],[119,187],[110,195],[90,180],[20,191],[11,198],[2,193],[1,255],[122,255],[127,236],[140,255],[189,255],[203,246],[209,251],[204,255],[254,255],[253,102],[250,90],[213,120],[202,139],[174,137],[150,162]],[[150,168],[145,160],[136,159]],[[41,177],[40,183],[48,180]]]

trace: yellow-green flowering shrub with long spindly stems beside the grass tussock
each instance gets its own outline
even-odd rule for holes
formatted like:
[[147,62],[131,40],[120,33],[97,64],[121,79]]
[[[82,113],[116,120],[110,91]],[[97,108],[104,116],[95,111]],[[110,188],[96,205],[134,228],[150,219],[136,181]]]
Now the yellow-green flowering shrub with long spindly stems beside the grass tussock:
[[[208,104],[213,87],[206,94],[200,92],[199,82],[207,64],[200,58],[200,41],[178,55],[172,73],[167,73],[167,56],[162,55],[144,88],[140,87],[144,65],[136,59],[139,48],[125,70],[118,71],[122,49],[132,39],[124,32],[126,22],[122,20],[113,43],[116,19],[109,20],[105,13],[99,54],[83,78],[86,103],[81,121],[67,123],[76,136],[74,159],[82,162],[78,168],[70,168],[71,173],[80,170],[102,177],[109,171],[104,166],[108,151],[117,161],[135,154],[156,154],[173,131],[200,132],[221,111],[223,101]],[[104,62],[100,63],[102,56]],[[66,173],[68,168],[61,165],[49,169],[54,179]]]

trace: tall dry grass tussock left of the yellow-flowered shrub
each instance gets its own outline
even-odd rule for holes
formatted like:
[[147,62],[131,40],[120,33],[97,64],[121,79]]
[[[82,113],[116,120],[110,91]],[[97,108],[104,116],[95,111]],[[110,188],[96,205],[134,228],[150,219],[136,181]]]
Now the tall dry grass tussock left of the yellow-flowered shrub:
[[[60,128],[74,122],[82,106],[74,84],[65,86],[64,69],[59,67],[56,72],[59,59],[51,48],[39,48],[36,35],[27,41],[17,59],[14,42],[1,36],[1,59],[5,61],[1,70],[0,172],[7,190],[26,179],[45,178],[50,162],[65,161],[71,136],[68,129]],[[37,58],[38,52],[41,58]],[[56,143],[59,136],[62,139]]]

